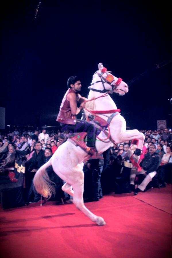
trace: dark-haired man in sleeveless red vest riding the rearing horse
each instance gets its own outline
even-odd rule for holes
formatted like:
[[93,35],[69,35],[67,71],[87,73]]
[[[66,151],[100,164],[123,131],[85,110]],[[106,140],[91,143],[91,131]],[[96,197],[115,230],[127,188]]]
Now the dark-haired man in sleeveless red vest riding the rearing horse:
[[[76,115],[85,108],[84,101],[87,100],[78,93],[81,91],[81,81],[77,76],[71,76],[67,80],[67,86],[69,89],[63,97],[56,121],[60,122],[63,131],[87,132],[87,146],[88,155],[91,155],[90,159],[102,159],[102,156],[98,155],[95,148],[95,126],[89,122],[76,119]],[[77,107],[78,103],[80,103],[79,107]]]

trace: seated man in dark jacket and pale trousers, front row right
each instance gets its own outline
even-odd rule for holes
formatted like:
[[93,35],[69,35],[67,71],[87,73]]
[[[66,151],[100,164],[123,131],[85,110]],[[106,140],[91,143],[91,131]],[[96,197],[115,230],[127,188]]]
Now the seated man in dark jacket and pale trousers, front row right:
[[149,146],[149,152],[145,155],[144,159],[140,163],[142,170],[138,172],[135,167],[131,169],[131,173],[130,173],[131,185],[134,185],[134,180],[136,175],[143,174],[145,176],[142,183],[138,185],[138,187],[134,190],[135,195],[137,195],[139,191],[145,190],[148,183],[156,175],[156,170],[158,169],[159,164],[160,164],[160,157],[159,157],[159,154],[156,153],[156,146],[155,144],[151,144]]

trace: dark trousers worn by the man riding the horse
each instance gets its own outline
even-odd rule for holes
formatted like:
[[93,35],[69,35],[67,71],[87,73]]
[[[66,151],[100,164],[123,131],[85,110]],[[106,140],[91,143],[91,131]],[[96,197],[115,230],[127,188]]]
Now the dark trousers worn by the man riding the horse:
[[77,119],[76,124],[60,123],[60,125],[63,131],[68,130],[69,132],[87,132],[87,146],[95,146],[96,128],[93,124]]

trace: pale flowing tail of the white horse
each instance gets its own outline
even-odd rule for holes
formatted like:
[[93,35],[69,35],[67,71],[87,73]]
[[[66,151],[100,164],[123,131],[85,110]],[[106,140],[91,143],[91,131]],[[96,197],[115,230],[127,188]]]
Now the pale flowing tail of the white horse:
[[54,183],[49,179],[46,168],[51,165],[51,159],[38,169],[34,175],[33,183],[36,191],[45,198],[51,198],[52,193],[55,194]]

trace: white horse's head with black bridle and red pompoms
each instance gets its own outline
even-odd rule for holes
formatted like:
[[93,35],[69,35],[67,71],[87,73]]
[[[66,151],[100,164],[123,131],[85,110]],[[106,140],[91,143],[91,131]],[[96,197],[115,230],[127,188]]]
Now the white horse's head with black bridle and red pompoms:
[[[94,85],[94,87],[92,85]],[[98,71],[93,75],[91,89],[92,88],[96,89],[96,91],[99,90],[99,92],[115,92],[121,96],[128,92],[127,83],[123,82],[121,78],[112,75],[110,71],[107,71],[107,69],[103,67],[102,63],[98,64]]]

